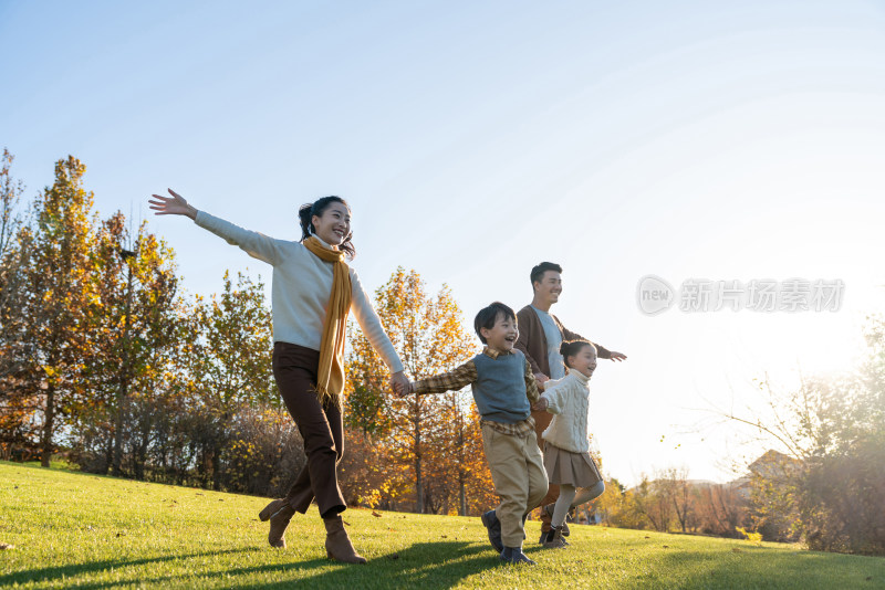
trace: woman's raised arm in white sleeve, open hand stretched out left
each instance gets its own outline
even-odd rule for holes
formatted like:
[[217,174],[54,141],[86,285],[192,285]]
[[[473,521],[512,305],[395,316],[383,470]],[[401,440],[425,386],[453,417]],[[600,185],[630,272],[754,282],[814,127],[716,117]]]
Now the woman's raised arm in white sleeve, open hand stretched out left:
[[282,260],[284,242],[268,238],[259,232],[244,230],[223,219],[210,215],[206,211],[199,211],[173,189],[168,189],[168,191],[171,197],[153,194],[153,199],[148,201],[150,203],[150,209],[156,211],[155,214],[188,217],[200,228],[223,238],[229,244],[240,246],[240,249],[252,257],[273,265]]

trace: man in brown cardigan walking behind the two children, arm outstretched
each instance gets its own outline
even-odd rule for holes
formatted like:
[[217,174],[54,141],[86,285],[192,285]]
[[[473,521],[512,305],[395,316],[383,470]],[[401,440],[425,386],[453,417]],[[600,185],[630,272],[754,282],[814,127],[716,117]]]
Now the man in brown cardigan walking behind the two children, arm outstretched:
[[[562,364],[560,355],[560,345],[563,341],[577,339],[590,341],[590,338],[569,330],[556,316],[550,313],[550,308],[559,301],[560,293],[562,293],[562,266],[552,262],[542,262],[532,268],[530,278],[534,296],[532,303],[517,314],[519,339],[516,348],[525,355],[534,378],[540,384],[549,379],[565,377],[565,366]],[[622,352],[608,350],[596,343],[593,344],[598,358],[618,362],[627,358]],[[538,445],[543,449],[541,433],[550,425],[553,417],[545,411],[533,411],[532,418],[534,418]],[[550,530],[552,510],[548,509],[548,505],[556,502],[559,495],[559,486],[551,485],[546,497],[541,502],[541,541],[539,542],[543,542]],[[568,527],[563,534],[568,535]]]

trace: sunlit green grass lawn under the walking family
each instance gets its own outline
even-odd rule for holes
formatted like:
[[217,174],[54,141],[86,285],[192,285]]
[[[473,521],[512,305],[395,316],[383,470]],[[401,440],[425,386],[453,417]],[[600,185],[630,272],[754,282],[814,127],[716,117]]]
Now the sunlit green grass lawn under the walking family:
[[330,561],[315,509],[267,545],[264,498],[0,462],[2,588],[885,588],[885,559],[573,526],[535,567],[503,566],[479,518],[350,509],[366,566]]

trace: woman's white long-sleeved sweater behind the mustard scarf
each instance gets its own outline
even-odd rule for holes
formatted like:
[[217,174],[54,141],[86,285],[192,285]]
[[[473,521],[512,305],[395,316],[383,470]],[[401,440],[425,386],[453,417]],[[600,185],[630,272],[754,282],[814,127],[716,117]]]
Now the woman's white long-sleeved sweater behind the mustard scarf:
[[[273,266],[271,305],[273,306],[273,341],[290,343],[313,350],[320,349],[329,297],[332,293],[332,264],[320,260],[300,242],[274,240],[233,223],[197,212],[197,225],[240,246],[250,256]],[[327,246],[327,244],[325,244]],[[403,370],[403,362],[381,319],[372,308],[360,277],[351,267],[352,305],[356,320],[372,347],[392,372]]]

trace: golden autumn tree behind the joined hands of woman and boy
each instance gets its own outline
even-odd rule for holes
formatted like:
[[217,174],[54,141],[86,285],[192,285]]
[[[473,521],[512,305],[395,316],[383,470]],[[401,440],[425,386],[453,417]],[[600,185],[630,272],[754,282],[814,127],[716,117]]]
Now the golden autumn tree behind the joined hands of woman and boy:
[[[397,268],[376,291],[375,309],[413,379],[450,370],[476,350],[449,288],[429,296],[415,271]],[[491,487],[488,467],[478,459],[481,438],[471,399],[466,392],[397,399],[386,391],[383,362],[353,327],[351,347],[348,424],[384,445],[388,461],[409,467],[416,512],[446,506],[466,512],[471,482]]]

